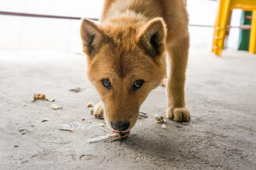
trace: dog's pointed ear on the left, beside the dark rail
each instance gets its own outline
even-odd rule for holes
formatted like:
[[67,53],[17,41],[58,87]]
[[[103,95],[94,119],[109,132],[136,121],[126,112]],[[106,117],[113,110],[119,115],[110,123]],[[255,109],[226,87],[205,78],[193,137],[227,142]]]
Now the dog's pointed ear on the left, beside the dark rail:
[[83,19],[80,27],[80,36],[83,42],[83,51],[86,55],[93,57],[100,50],[104,38],[100,26],[88,19]]

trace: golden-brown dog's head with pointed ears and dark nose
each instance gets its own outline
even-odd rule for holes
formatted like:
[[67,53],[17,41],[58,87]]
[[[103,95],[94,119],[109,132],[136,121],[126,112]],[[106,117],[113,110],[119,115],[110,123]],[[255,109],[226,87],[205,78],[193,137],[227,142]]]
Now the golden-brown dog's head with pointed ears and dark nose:
[[88,78],[104,103],[108,126],[129,131],[141,104],[166,75],[163,20],[99,26],[84,19],[80,34],[88,57]]

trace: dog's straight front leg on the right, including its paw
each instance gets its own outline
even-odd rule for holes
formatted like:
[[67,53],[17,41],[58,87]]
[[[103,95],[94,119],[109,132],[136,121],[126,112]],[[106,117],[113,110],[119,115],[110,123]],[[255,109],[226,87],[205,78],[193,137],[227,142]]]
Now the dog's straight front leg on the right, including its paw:
[[184,94],[188,48],[189,38],[184,38],[178,44],[167,47],[170,59],[170,75],[166,84],[166,117],[178,122],[187,122],[190,119],[190,112],[186,108]]

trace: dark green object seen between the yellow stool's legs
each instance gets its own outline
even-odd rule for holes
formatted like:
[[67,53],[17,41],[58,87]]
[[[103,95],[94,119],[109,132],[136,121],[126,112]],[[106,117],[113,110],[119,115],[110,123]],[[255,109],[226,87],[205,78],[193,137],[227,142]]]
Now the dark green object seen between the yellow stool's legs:
[[[241,16],[241,25],[251,25],[252,20],[246,18],[246,16],[252,16],[252,11],[243,11]],[[239,32],[238,50],[249,50],[250,42],[250,30],[242,30]]]

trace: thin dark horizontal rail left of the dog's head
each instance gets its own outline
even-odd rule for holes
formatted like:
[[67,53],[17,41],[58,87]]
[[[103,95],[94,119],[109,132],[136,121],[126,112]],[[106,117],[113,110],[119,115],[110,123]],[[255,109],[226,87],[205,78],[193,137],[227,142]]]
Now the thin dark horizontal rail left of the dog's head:
[[[81,17],[72,17],[72,16],[54,16],[54,15],[42,15],[42,14],[27,14],[27,13],[18,13],[18,12],[5,12],[0,11],[1,15],[12,15],[12,16],[29,16],[29,17],[39,17],[39,18],[57,18],[57,19],[70,19],[70,20],[80,20]],[[96,18],[88,18],[90,20],[98,21]]]

